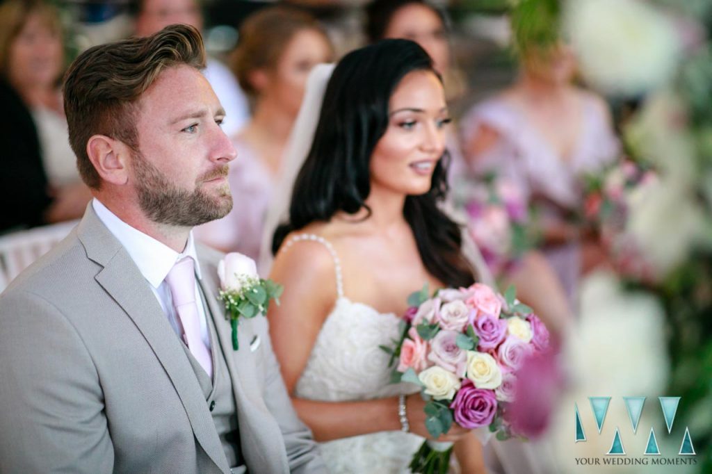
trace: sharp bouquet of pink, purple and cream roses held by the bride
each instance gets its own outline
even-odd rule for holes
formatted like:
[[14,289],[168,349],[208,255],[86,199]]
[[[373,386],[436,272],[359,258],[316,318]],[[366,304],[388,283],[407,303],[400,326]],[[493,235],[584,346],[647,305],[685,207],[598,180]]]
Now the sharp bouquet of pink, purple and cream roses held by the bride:
[[[409,297],[402,336],[382,346],[397,362],[393,381],[417,384],[428,400],[426,428],[432,438],[464,428],[488,427],[500,440],[513,436],[507,406],[515,394],[515,372],[526,357],[543,352],[549,332],[530,307],[487,285],[445,289],[429,297],[427,287]],[[426,441],[414,455],[413,473],[446,473],[451,446]]]

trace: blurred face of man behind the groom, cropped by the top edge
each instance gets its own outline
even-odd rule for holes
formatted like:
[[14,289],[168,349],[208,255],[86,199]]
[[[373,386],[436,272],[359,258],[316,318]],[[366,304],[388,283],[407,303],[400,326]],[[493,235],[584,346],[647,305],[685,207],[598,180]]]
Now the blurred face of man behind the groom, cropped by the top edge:
[[203,27],[195,0],[145,0],[136,19],[136,34],[149,36],[175,23]]

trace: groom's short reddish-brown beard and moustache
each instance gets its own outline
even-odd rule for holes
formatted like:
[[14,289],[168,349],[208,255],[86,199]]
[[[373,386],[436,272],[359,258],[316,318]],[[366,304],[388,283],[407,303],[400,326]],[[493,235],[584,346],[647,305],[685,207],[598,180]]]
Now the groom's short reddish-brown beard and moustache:
[[147,161],[140,152],[132,156],[136,175],[136,191],[141,210],[156,223],[194,227],[226,216],[232,209],[232,195],[226,184],[219,195],[209,196],[201,184],[210,179],[226,177],[228,166],[199,177],[194,191],[180,189]]

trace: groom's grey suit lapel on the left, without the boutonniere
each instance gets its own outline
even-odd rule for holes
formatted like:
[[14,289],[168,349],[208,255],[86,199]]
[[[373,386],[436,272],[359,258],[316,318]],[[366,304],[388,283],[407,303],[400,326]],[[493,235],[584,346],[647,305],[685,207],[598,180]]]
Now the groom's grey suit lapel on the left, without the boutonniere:
[[229,471],[227,458],[207,409],[203,392],[181,342],[137,266],[91,208],[78,228],[87,256],[103,265],[95,277],[145,337],[182,401],[195,437],[221,470]]

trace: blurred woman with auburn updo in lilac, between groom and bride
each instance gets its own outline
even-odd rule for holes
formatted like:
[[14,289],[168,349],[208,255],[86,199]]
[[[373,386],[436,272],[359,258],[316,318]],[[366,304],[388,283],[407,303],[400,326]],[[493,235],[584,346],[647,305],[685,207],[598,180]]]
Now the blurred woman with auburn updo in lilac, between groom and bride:
[[234,136],[239,156],[230,166],[233,210],[198,227],[201,241],[258,260],[266,209],[307,77],[332,55],[326,33],[304,11],[268,7],[244,21],[230,66],[253,100],[253,115]]

